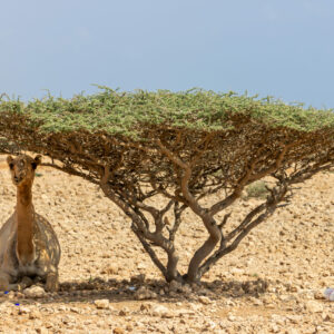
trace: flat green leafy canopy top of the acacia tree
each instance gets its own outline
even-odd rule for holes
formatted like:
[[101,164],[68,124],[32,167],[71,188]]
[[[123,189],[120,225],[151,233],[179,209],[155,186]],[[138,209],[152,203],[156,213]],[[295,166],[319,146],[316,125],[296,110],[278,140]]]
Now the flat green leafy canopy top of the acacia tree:
[[121,92],[99,88],[96,95],[71,99],[49,95],[28,104],[1,98],[0,115],[24,115],[43,132],[86,130],[129,137],[140,137],[147,125],[213,131],[234,128],[240,119],[298,131],[334,127],[333,110],[304,109],[271,98],[199,89]]

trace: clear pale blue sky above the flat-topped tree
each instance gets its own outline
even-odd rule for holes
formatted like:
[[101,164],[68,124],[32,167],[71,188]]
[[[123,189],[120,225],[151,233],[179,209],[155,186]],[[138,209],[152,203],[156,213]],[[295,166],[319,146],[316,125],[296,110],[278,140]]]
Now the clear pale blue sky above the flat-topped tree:
[[0,4],[0,94],[200,87],[334,107],[333,0]]

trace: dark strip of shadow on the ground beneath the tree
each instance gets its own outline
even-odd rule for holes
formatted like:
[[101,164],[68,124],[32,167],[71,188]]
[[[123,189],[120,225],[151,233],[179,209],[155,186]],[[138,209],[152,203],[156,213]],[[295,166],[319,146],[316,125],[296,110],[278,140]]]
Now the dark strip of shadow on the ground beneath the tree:
[[242,298],[245,296],[258,297],[264,294],[269,285],[265,279],[249,281],[214,281],[200,284],[168,284],[164,279],[144,279],[144,275],[131,279],[108,281],[101,277],[81,282],[62,282],[57,293],[48,293],[42,298],[28,298],[20,292],[0,294],[0,305],[4,302],[24,305],[36,302],[51,303],[94,303],[96,299],[109,299],[110,303],[121,302],[197,302],[200,296],[210,301],[222,298]]

